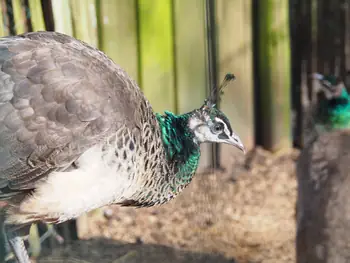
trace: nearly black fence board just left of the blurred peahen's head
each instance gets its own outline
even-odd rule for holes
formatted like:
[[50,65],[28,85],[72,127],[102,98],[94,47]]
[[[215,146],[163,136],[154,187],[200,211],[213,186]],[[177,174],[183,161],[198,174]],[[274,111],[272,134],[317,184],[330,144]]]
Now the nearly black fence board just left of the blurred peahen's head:
[[296,147],[304,145],[305,111],[312,96],[309,74],[316,71],[315,0],[292,0],[291,15],[291,63],[292,106],[294,112],[293,142]]

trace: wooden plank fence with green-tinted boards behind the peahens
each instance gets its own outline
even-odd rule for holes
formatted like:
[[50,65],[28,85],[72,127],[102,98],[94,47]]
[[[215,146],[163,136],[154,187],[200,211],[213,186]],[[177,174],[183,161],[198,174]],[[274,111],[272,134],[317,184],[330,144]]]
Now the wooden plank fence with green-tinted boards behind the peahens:
[[[220,107],[249,150],[302,147],[304,101],[312,87],[308,75],[345,76],[350,70],[350,0],[0,4],[1,36],[54,30],[83,40],[121,65],[160,113],[199,107],[227,72],[235,74]],[[225,167],[231,151],[204,146],[200,172]],[[64,236],[74,239],[74,232]]]

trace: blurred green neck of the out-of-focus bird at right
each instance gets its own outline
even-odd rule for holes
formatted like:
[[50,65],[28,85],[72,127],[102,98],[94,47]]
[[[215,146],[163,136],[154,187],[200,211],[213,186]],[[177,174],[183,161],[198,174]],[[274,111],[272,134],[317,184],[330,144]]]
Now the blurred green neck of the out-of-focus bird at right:
[[350,128],[350,97],[345,88],[339,97],[320,103],[317,124],[328,130]]

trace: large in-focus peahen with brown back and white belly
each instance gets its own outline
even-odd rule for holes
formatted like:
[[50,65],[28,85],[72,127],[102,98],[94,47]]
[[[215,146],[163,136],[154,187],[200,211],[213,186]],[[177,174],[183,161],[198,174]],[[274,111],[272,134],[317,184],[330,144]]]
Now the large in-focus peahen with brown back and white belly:
[[31,223],[166,203],[191,182],[201,143],[244,151],[215,92],[191,112],[156,114],[124,70],[70,36],[0,38],[0,65],[0,201],[21,263]]

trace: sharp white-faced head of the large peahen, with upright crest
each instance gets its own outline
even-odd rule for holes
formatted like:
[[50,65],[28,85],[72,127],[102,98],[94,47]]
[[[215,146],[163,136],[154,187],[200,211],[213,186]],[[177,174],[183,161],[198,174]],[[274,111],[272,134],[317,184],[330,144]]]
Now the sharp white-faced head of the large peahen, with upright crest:
[[227,74],[223,83],[213,90],[201,108],[193,111],[189,118],[189,128],[198,143],[213,142],[233,145],[245,153],[244,145],[233,131],[229,119],[216,106],[216,101],[227,84],[234,80],[233,74]]

